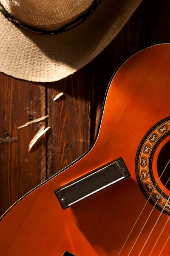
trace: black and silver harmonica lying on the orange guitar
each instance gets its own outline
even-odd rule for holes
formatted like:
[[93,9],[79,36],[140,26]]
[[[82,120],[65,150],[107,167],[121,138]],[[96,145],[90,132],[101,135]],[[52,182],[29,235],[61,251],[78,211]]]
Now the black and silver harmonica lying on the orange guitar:
[[130,177],[130,173],[120,158],[89,172],[54,192],[62,209],[66,209],[127,177]]

